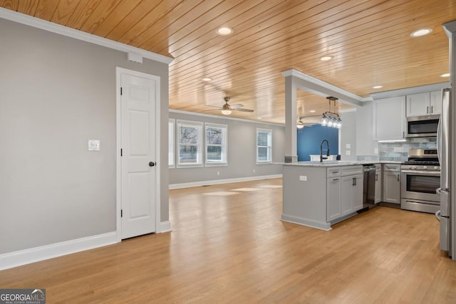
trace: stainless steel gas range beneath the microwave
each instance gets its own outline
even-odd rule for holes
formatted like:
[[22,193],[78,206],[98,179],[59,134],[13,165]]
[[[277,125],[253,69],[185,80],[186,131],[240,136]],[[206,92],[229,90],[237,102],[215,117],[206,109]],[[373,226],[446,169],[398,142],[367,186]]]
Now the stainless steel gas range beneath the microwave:
[[400,209],[433,213],[440,210],[440,164],[436,149],[410,149],[400,166]]

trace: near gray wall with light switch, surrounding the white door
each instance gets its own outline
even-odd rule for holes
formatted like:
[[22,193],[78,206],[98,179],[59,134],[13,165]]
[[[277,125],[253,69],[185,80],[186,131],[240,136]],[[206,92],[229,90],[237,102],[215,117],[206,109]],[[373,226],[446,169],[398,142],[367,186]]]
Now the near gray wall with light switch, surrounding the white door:
[[0,254],[115,231],[116,66],[161,78],[167,221],[167,64],[4,19],[0,41]]

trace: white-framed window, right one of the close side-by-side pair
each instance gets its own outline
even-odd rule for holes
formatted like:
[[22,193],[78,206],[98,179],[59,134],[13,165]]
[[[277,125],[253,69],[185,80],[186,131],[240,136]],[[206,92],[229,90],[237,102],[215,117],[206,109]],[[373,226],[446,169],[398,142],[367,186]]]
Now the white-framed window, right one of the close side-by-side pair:
[[206,164],[227,164],[227,125],[207,123],[206,133]]

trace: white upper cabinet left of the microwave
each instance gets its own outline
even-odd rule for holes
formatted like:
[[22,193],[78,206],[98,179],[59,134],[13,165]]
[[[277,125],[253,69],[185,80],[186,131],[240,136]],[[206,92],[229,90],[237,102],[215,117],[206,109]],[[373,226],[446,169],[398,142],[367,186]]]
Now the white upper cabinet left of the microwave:
[[374,115],[375,140],[405,138],[405,96],[375,100]]

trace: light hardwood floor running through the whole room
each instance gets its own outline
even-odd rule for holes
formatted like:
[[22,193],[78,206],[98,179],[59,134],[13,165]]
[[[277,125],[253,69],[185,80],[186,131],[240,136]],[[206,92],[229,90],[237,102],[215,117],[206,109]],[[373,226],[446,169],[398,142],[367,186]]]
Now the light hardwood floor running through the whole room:
[[279,186],[172,190],[172,232],[0,271],[0,288],[46,288],[47,303],[456,303],[432,214],[379,206],[320,231],[279,220]]

